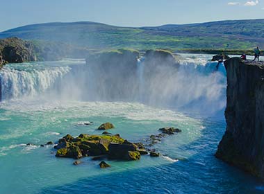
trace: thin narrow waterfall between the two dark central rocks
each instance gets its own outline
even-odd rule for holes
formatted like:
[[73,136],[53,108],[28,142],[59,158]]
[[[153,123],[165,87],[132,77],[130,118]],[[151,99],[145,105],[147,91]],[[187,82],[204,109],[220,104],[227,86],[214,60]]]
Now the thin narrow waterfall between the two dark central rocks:
[[138,78],[138,100],[144,102],[144,91],[145,91],[145,77],[144,77],[144,57],[138,58],[137,63],[137,78]]

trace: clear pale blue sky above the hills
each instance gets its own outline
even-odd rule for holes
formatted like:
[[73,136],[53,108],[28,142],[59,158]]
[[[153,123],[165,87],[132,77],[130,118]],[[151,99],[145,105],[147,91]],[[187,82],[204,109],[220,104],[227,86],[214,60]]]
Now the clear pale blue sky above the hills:
[[264,0],[0,0],[0,31],[52,21],[116,26],[264,18]]

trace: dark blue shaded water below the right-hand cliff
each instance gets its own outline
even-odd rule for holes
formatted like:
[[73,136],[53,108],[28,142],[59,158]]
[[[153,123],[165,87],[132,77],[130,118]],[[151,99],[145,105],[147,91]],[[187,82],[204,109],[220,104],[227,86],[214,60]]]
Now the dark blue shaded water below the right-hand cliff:
[[212,126],[204,121],[201,138],[181,148],[195,152],[188,159],[87,177],[43,188],[40,193],[263,193],[258,179],[213,156],[224,134],[223,122]]

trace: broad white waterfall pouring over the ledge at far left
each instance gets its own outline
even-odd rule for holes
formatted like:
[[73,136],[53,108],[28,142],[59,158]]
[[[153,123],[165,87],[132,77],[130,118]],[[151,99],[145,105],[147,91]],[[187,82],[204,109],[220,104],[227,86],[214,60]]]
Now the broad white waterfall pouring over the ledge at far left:
[[32,67],[13,68],[10,64],[0,71],[1,100],[10,100],[24,96],[35,96],[47,91],[57,80],[69,71],[68,67]]

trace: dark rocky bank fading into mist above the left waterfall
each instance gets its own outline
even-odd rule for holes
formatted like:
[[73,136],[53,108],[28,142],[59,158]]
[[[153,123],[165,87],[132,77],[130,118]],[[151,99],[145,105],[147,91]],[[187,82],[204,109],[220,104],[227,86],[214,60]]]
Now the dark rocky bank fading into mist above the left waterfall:
[[85,58],[91,50],[58,42],[28,41],[17,37],[0,39],[0,68],[6,63]]

